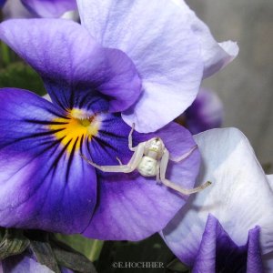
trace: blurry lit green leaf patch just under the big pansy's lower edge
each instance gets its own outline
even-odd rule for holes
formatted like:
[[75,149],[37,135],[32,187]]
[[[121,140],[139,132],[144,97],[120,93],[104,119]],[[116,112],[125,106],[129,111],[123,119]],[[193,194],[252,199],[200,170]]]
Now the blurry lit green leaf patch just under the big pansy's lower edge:
[[103,241],[85,238],[81,235],[56,234],[55,238],[84,254],[91,261],[98,258],[104,244]]

